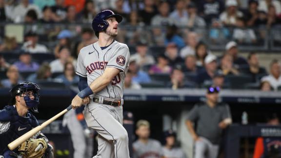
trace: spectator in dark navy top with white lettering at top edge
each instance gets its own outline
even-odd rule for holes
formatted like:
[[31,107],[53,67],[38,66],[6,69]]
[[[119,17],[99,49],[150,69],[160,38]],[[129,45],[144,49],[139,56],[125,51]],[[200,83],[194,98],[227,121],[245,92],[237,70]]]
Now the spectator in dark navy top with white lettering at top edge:
[[199,15],[204,18],[207,24],[214,19],[218,19],[224,10],[224,4],[221,0],[201,0],[198,5]]

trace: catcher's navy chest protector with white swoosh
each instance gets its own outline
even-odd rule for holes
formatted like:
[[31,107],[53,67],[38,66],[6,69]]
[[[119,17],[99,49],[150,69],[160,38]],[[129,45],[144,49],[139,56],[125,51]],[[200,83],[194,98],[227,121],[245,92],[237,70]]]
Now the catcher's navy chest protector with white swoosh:
[[[8,144],[13,140],[19,138],[32,128],[38,126],[37,119],[31,114],[27,113],[26,117],[20,117],[14,106],[5,106],[5,114],[1,113],[0,122],[10,123],[10,127],[7,131],[0,134],[0,155],[8,149]],[[17,150],[17,149],[15,149]]]

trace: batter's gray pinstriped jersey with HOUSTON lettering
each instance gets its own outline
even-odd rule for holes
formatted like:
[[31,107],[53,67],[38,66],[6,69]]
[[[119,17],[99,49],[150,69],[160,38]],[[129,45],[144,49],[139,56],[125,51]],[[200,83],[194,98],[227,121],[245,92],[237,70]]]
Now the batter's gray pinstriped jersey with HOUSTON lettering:
[[123,97],[125,75],[128,71],[130,53],[126,44],[113,41],[107,48],[101,49],[98,42],[80,50],[76,74],[87,77],[88,85],[99,78],[106,67],[114,67],[120,73],[112,79],[111,84],[95,94],[106,98],[120,99]]

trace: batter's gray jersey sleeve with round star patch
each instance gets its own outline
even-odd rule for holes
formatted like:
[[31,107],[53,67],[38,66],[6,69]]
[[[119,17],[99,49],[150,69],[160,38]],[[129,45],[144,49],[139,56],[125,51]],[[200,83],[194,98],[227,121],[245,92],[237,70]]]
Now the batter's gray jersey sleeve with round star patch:
[[106,67],[114,67],[119,69],[121,72],[129,66],[130,52],[128,47],[120,47],[109,59]]

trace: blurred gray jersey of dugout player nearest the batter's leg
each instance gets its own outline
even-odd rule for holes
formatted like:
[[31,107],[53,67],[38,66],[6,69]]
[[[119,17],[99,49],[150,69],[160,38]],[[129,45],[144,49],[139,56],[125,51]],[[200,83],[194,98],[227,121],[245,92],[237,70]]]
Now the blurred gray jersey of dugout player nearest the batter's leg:
[[133,143],[133,158],[161,158],[163,156],[161,143],[158,140],[148,139],[144,144],[140,140]]

